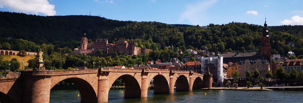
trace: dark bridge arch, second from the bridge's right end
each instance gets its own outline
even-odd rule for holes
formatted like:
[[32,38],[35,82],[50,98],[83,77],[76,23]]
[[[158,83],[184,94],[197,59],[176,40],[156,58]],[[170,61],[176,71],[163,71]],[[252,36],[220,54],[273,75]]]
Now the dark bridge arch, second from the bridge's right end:
[[184,75],[178,76],[175,85],[176,91],[189,91],[188,79]]

